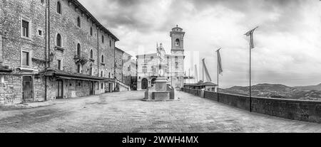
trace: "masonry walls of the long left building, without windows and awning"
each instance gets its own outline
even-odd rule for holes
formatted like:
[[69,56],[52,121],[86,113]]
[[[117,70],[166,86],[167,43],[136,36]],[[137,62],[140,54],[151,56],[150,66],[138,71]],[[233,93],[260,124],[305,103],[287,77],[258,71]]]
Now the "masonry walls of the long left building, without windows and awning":
[[[57,12],[58,1],[61,3],[61,13]],[[106,30],[106,32],[101,31],[102,28],[99,28],[92,18],[89,18],[91,15],[81,11],[82,6],[76,6],[73,1],[63,0],[45,1],[44,4],[40,0],[0,0],[0,8],[0,56],[4,57],[4,65],[14,70],[10,74],[0,73],[0,77],[4,77],[4,83],[0,84],[0,96],[6,97],[6,99],[0,99],[1,103],[23,102],[21,84],[23,76],[32,77],[34,102],[56,98],[56,79],[41,75],[46,69],[48,50],[54,53],[53,62],[47,64],[51,68],[70,74],[91,75],[92,65],[93,76],[113,78],[116,38]],[[49,20],[47,20],[48,16],[50,16]],[[77,26],[78,17],[81,19],[81,27]],[[21,20],[23,19],[29,21],[29,38],[21,36]],[[50,34],[47,31],[48,27]],[[39,34],[39,31],[42,31],[42,34]],[[56,46],[58,33],[62,39],[61,48]],[[77,73],[77,64],[74,60],[78,43],[81,45],[82,57],[86,59],[91,58],[91,50],[93,50],[92,60],[82,65],[81,73]],[[50,48],[48,48],[49,45]],[[4,48],[1,48],[2,46]],[[22,50],[30,52],[29,66],[21,65]],[[101,55],[104,55],[104,64],[101,64]],[[57,60],[61,60],[62,69],[58,69]],[[21,68],[24,69],[21,70]],[[81,97],[90,93],[88,81],[81,81],[80,86],[77,83],[78,80],[63,80],[63,96]],[[104,82],[102,84],[107,85]],[[99,82],[95,82],[94,90],[96,94],[105,92],[105,89],[101,89]]]

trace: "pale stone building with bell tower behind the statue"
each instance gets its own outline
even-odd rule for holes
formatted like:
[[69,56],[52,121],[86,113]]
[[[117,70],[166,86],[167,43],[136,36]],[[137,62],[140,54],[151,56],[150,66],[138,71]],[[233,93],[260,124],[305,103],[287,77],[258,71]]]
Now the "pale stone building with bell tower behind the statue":
[[[183,28],[176,26],[170,31],[171,50],[170,54],[163,53],[165,64],[160,65],[159,53],[137,55],[137,89],[147,89],[153,86],[160,71],[165,71],[164,75],[168,84],[175,88],[183,87],[184,77],[184,36]],[[158,52],[165,52],[163,45],[157,47]],[[163,69],[163,70],[162,70]]]

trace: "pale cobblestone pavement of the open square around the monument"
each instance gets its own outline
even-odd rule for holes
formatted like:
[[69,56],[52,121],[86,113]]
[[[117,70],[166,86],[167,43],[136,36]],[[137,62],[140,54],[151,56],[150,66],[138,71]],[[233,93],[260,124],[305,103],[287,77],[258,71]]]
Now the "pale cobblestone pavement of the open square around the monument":
[[143,92],[122,92],[0,111],[0,132],[321,132],[321,124],[250,113],[177,94],[177,102],[143,102]]

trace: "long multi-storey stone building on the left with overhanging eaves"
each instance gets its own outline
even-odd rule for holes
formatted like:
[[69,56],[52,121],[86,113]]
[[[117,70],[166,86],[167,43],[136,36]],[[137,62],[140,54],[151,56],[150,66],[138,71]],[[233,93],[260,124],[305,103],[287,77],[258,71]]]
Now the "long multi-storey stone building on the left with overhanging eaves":
[[115,87],[118,38],[77,0],[0,0],[0,7],[0,104]]

